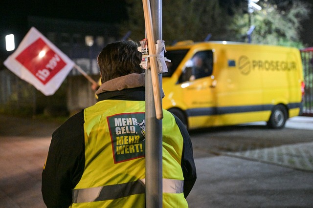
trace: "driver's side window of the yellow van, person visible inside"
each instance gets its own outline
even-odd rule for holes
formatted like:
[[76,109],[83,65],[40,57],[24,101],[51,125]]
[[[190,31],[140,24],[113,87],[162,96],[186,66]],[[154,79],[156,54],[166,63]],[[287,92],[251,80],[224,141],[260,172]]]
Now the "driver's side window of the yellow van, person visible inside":
[[213,72],[213,52],[197,52],[189,61],[179,77],[179,83],[194,81],[203,77],[211,76]]

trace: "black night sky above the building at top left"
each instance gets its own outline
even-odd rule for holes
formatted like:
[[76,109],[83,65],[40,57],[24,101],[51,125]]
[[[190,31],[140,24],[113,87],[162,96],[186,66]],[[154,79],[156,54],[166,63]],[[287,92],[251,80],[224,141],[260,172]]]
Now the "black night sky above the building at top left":
[[7,21],[27,15],[105,22],[126,18],[125,0],[1,0],[0,11]]

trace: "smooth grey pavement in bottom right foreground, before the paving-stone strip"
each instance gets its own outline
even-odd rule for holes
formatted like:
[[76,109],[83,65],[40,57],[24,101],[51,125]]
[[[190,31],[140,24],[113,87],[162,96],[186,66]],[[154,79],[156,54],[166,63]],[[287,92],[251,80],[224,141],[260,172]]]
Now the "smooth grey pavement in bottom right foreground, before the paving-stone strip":
[[313,173],[219,156],[195,160],[190,208],[313,208]]

